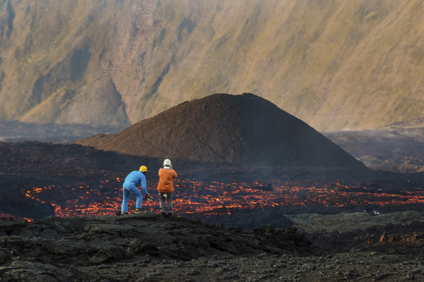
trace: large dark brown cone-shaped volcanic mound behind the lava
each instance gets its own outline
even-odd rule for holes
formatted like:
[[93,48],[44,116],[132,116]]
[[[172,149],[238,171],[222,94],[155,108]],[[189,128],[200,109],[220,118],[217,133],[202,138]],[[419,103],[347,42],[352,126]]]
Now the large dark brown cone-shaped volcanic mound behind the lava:
[[184,102],[114,135],[77,142],[151,158],[365,168],[317,130],[254,94]]

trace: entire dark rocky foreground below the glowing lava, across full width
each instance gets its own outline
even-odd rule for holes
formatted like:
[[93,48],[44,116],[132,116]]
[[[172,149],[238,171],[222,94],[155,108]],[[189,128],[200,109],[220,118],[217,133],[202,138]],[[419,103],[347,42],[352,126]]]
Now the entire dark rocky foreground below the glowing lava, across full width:
[[424,213],[243,231],[156,214],[0,222],[0,281],[423,281]]

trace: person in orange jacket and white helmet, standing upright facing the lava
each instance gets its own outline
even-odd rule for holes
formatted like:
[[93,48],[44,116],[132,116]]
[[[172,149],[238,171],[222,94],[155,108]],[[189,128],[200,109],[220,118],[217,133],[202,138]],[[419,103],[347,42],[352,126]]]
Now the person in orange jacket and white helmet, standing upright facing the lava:
[[163,168],[159,169],[159,204],[160,214],[163,216],[172,216],[172,192],[174,192],[174,178],[177,173],[172,169],[170,159],[163,161]]

